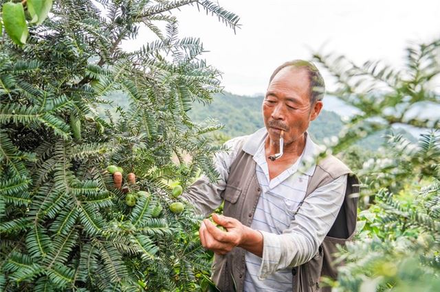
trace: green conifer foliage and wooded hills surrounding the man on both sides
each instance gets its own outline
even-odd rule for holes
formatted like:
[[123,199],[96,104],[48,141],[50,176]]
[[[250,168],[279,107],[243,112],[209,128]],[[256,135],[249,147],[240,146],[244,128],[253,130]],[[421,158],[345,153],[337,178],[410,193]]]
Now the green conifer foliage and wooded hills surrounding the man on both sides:
[[[239,15],[208,0],[0,3],[0,291],[216,291],[203,218],[179,195],[217,180],[213,155],[262,126],[261,97],[226,93],[174,12],[231,30]],[[155,40],[124,51],[140,27]],[[440,38],[408,44],[404,69],[320,51],[310,61],[358,109],[311,129],[317,159],[333,154],[360,178],[355,239],[320,286],[440,291],[440,115],[408,114],[440,105]]]

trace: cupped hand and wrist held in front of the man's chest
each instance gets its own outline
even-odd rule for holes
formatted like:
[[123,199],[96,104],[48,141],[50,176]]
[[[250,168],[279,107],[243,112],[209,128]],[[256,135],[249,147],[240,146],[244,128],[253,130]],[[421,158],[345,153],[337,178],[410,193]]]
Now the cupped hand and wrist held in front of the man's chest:
[[263,235],[260,232],[244,226],[232,217],[212,214],[212,219],[228,231],[222,231],[211,221],[204,219],[199,229],[203,247],[215,254],[227,254],[236,246],[243,247],[257,256],[263,254]]

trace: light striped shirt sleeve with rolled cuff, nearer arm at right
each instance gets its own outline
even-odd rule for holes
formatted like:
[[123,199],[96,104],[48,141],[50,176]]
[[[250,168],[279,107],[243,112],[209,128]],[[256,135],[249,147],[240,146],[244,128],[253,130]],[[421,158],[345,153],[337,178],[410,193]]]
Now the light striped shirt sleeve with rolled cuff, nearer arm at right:
[[344,202],[346,188],[347,175],[341,175],[305,198],[283,234],[261,231],[263,257],[260,280],[264,280],[278,269],[307,263],[315,256],[336,221]]

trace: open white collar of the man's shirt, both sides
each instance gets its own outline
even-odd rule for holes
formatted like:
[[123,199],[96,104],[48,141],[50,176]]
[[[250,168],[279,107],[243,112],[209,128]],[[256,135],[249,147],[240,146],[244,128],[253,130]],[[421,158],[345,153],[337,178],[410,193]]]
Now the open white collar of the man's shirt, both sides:
[[[243,145],[243,151],[254,156],[260,145],[264,143],[266,137],[267,130],[265,127],[262,127],[249,136],[248,140]],[[299,171],[307,175],[313,175],[316,167],[316,156],[319,151],[319,145],[316,145],[316,143],[311,140],[309,133],[306,132],[305,149],[300,160],[307,164],[307,168],[304,170],[304,167],[299,167]]]

